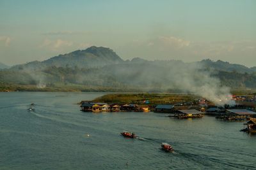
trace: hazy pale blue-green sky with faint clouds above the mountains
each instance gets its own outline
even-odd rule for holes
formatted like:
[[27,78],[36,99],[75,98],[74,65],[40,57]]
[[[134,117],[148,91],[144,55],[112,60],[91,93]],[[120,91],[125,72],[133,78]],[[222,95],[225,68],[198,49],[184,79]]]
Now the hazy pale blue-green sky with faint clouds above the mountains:
[[83,50],[122,59],[224,60],[256,66],[256,1],[0,0],[0,62]]

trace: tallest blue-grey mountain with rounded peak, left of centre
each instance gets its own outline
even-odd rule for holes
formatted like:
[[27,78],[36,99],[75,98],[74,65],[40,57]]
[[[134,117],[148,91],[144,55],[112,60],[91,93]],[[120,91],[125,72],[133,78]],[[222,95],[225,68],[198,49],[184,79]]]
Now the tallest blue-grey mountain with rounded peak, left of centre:
[[76,50],[71,53],[61,54],[42,62],[33,61],[27,64],[13,66],[12,69],[41,70],[45,67],[101,67],[124,62],[113,50],[105,47],[91,46],[86,50]]

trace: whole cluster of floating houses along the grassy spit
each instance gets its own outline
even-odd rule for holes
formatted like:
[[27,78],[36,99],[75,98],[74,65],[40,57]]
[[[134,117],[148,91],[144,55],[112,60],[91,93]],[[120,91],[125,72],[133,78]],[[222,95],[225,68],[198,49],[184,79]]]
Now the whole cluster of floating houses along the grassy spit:
[[172,118],[203,118],[211,115],[224,121],[248,121],[244,124],[244,132],[256,132],[256,96],[233,96],[234,106],[225,104],[216,106],[206,99],[196,99],[193,102],[184,101],[174,104],[152,104],[150,100],[136,103],[102,103],[95,101],[81,101],[81,111],[84,112],[150,112],[170,113]]

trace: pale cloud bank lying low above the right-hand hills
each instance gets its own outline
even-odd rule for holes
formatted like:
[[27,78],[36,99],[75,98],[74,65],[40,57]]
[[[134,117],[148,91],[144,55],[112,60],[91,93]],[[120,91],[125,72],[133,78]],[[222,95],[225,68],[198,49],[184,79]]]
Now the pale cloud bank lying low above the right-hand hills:
[[125,59],[225,60],[255,66],[256,41],[191,41],[175,36],[159,36],[148,40],[131,41],[116,49]]

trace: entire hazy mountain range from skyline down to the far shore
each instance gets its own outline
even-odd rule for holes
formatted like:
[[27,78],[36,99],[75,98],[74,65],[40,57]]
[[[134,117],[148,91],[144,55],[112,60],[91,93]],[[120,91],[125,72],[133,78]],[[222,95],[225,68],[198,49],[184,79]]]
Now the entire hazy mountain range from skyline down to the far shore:
[[[12,83],[52,87],[56,83],[89,87],[135,88],[149,90],[183,89],[218,84],[256,88],[256,67],[218,60],[122,60],[113,50],[92,46],[42,62],[33,61],[0,71],[0,84]],[[212,78],[217,78],[212,79]],[[186,91],[185,90],[185,91]]]

